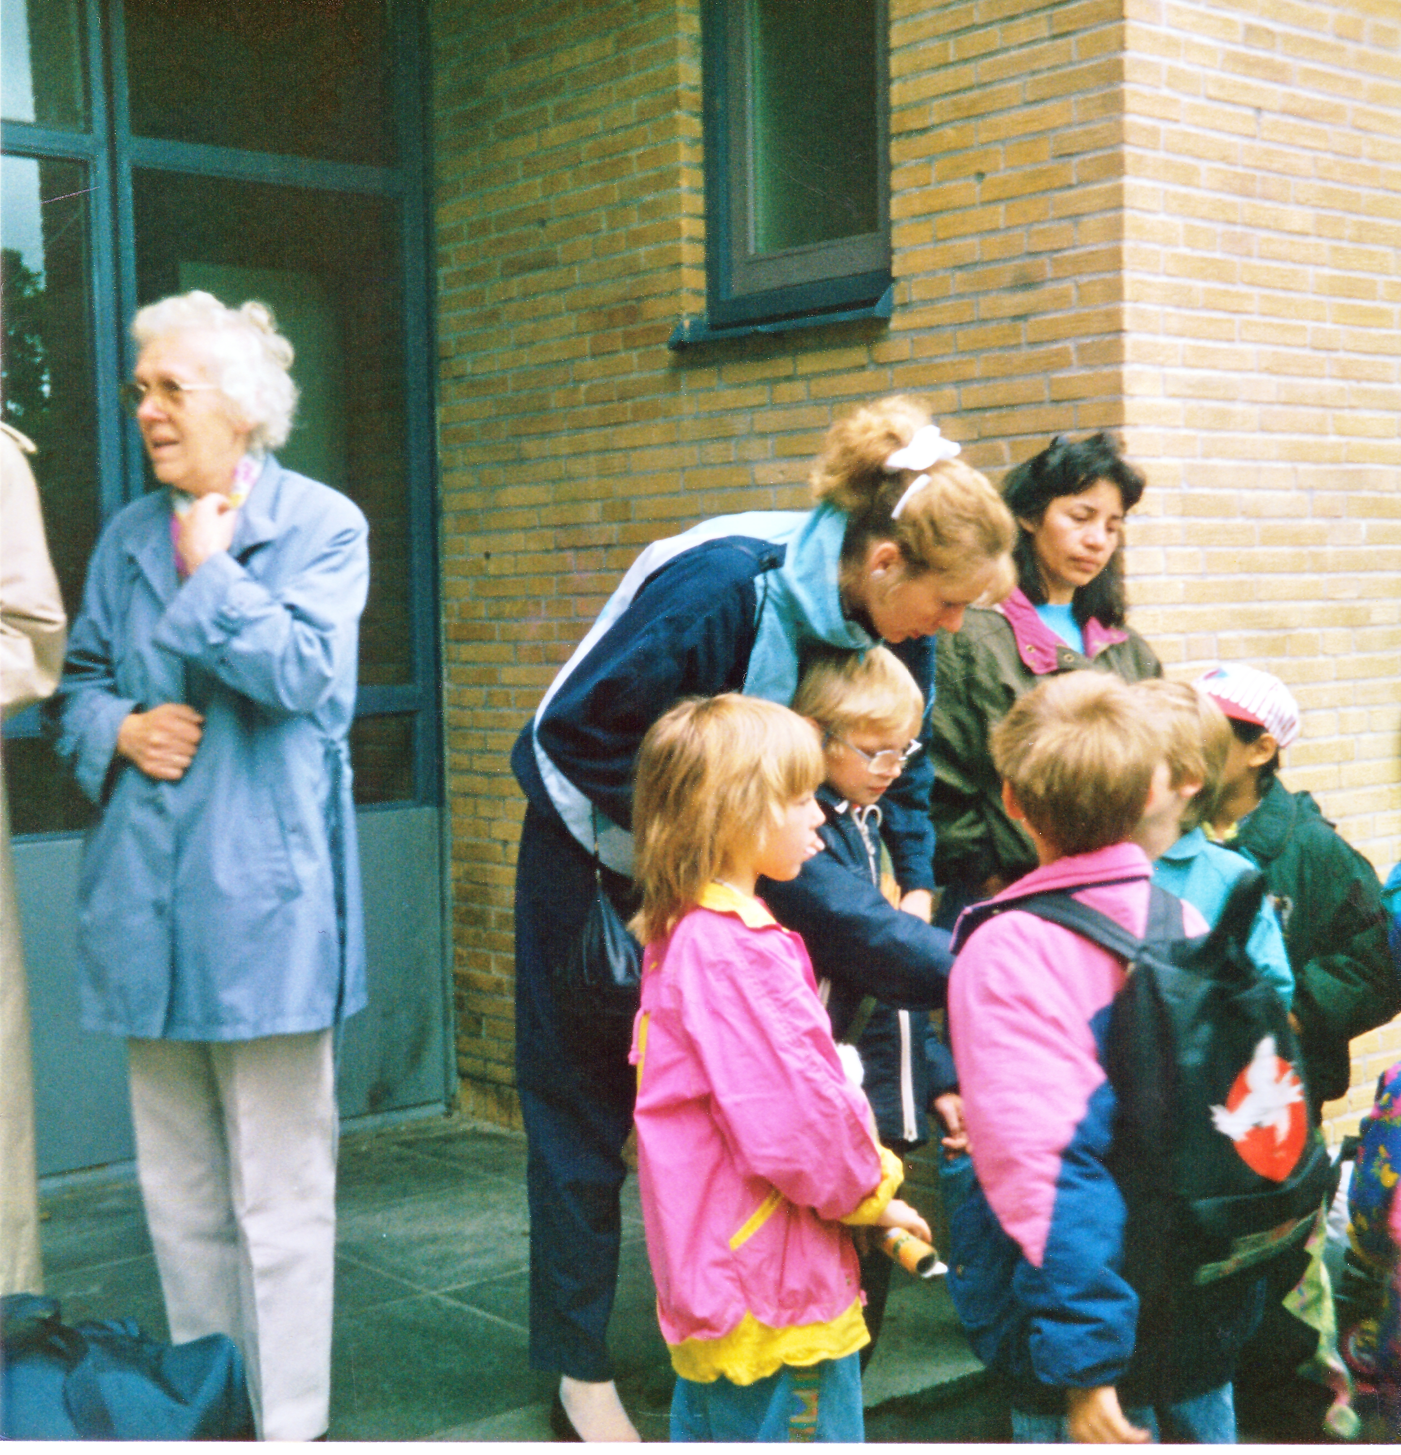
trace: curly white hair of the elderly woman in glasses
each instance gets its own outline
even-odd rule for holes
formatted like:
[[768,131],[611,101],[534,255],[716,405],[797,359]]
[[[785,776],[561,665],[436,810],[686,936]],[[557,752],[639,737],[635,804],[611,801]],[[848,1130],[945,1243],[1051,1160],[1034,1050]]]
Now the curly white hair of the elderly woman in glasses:
[[249,426],[249,448],[263,454],[284,445],[297,410],[297,386],[288,372],[295,351],[278,333],[272,308],[252,301],[225,308],[212,292],[196,288],[147,304],[131,320],[131,336],[143,349],[177,335],[192,335],[208,356],[209,383]]

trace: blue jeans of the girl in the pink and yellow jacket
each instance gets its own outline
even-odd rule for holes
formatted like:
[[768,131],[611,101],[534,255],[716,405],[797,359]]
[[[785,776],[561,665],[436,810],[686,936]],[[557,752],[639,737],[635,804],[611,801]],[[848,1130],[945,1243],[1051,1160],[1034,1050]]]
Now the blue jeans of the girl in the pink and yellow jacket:
[[755,1384],[676,1379],[671,1440],[786,1445],[789,1440],[860,1445],[861,1356],[823,1359],[805,1369],[784,1365]]

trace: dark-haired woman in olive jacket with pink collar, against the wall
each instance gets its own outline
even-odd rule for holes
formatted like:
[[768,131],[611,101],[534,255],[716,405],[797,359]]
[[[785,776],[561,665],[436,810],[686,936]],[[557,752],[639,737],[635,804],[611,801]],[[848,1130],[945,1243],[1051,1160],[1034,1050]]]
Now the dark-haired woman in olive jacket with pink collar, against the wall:
[[940,645],[930,755],[937,924],[1036,867],[1036,850],[1002,808],[988,730],[1055,672],[1116,672],[1126,682],[1162,665],[1126,623],[1123,521],[1143,477],[1111,435],[1058,435],[1010,471],[1002,499],[1017,519],[1017,589],[972,607]]

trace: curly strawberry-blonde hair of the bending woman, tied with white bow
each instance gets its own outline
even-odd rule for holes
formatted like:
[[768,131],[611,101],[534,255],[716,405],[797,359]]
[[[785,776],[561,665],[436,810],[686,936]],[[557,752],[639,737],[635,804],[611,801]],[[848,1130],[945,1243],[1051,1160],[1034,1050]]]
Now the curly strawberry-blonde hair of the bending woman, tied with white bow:
[[[908,394],[890,394],[838,419],[826,432],[812,492],[850,519],[842,570],[855,567],[871,540],[895,541],[914,575],[965,576],[1002,562],[999,581],[1005,586],[997,595],[989,592],[989,599],[999,601],[1017,582],[1011,566],[1017,525],[986,476],[963,460],[941,460],[919,471],[885,469],[886,458],[928,423],[924,404]],[[893,519],[890,512],[919,474],[928,476],[928,485],[915,490]]]

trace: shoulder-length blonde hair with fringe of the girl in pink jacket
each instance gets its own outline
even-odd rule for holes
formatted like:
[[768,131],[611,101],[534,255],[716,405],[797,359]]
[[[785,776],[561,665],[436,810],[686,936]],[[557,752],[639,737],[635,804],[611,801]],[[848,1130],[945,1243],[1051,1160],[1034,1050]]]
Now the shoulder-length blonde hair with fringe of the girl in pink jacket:
[[642,741],[633,789],[637,938],[668,934],[823,773],[812,723],[777,703],[723,693],[663,713]]

